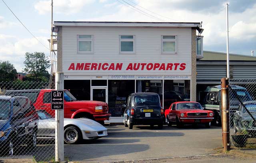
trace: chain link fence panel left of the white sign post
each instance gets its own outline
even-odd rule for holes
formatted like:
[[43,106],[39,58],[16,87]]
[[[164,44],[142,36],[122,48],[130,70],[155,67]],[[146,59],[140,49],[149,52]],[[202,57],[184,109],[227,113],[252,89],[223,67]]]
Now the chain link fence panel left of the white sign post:
[[54,82],[0,81],[0,157],[55,159],[54,87]]

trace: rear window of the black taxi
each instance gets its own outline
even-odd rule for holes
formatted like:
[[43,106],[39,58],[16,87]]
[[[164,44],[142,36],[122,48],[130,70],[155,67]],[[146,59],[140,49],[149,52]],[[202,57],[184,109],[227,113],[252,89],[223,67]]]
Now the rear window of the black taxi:
[[134,97],[136,105],[156,105],[159,103],[158,95],[136,95]]

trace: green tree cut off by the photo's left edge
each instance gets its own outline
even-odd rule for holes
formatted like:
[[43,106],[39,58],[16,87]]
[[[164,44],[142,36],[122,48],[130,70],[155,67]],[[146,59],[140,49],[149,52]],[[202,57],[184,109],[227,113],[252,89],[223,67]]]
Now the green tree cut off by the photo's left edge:
[[17,75],[17,70],[9,61],[0,60],[0,80],[11,81]]

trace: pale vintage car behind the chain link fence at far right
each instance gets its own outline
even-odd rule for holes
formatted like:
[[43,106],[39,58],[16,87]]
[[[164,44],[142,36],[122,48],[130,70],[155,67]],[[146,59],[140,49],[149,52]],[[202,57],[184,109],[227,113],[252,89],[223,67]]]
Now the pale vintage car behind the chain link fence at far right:
[[[256,119],[256,101],[244,102],[248,112]],[[238,111],[234,114],[234,134],[246,133],[248,137],[256,137],[256,122],[246,109],[240,104]]]

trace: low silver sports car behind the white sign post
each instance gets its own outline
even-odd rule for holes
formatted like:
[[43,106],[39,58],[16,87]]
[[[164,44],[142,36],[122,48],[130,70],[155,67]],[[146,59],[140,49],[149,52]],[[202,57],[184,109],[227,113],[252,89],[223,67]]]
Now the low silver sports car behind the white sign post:
[[[55,138],[55,118],[45,110],[37,111],[39,116],[38,139]],[[98,139],[107,136],[106,127],[91,119],[64,118],[64,141],[67,144],[77,144],[82,139]]]

